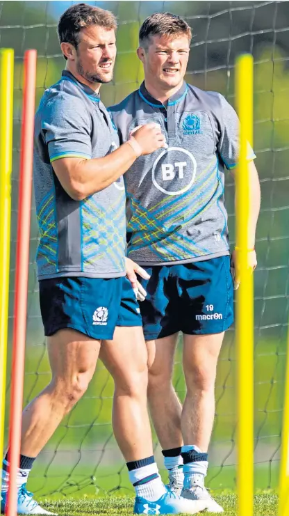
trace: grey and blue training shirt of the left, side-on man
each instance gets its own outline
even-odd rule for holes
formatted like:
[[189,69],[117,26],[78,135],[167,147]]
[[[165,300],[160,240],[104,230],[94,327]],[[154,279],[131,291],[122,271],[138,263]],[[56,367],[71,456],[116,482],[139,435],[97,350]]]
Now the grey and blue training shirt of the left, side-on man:
[[33,181],[40,228],[38,279],[125,275],[125,194],[120,178],[74,201],[51,163],[62,157],[104,157],[119,146],[99,95],[64,71],[35,115]]

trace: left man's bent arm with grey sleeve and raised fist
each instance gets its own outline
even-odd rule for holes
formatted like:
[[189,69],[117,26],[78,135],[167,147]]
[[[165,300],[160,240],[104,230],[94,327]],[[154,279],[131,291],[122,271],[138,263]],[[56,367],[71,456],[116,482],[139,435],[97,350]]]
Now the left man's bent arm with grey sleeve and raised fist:
[[67,194],[77,201],[111,185],[140,154],[152,153],[165,144],[160,127],[151,123],[113,153],[92,158],[90,114],[81,98],[65,92],[44,105],[41,129],[53,171]]

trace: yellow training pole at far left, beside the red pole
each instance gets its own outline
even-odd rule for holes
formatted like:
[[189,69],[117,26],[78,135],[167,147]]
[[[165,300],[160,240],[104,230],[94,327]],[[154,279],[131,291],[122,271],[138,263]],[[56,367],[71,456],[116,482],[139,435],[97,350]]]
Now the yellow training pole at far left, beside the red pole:
[[0,460],[2,460],[4,444],[8,338],[13,69],[13,49],[0,49]]

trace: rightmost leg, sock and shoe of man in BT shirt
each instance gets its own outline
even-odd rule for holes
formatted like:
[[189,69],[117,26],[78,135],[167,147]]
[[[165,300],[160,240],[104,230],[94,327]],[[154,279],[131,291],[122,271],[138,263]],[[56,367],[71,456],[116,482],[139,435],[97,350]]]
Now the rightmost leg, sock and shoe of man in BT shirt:
[[[187,394],[181,414],[185,444],[199,448],[183,454],[185,475],[182,495],[186,499],[206,501],[208,512],[222,513],[223,508],[210,496],[204,485],[208,450],[215,416],[215,377],[224,332],[211,335],[183,336],[183,372]],[[200,453],[201,452],[201,453]],[[196,453],[197,455],[196,457]]]

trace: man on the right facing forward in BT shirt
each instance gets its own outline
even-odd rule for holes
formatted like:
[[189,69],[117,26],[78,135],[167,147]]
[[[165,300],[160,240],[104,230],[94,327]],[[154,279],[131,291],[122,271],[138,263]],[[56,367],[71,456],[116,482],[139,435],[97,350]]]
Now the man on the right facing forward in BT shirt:
[[[167,149],[140,157],[124,177],[128,256],[150,275],[141,281],[147,298],[140,304],[149,350],[149,407],[170,488],[206,500],[208,510],[219,513],[223,509],[208,494],[204,478],[217,359],[233,322],[224,173],[238,162],[238,118],[220,93],[183,80],[190,39],[190,26],[181,17],[149,16],[140,27],[137,51],[145,81],[110,111],[122,142],[149,122],[158,123],[166,137]],[[254,157],[249,150],[251,270],[260,207]],[[172,386],[179,331],[187,387],[183,407]]]

